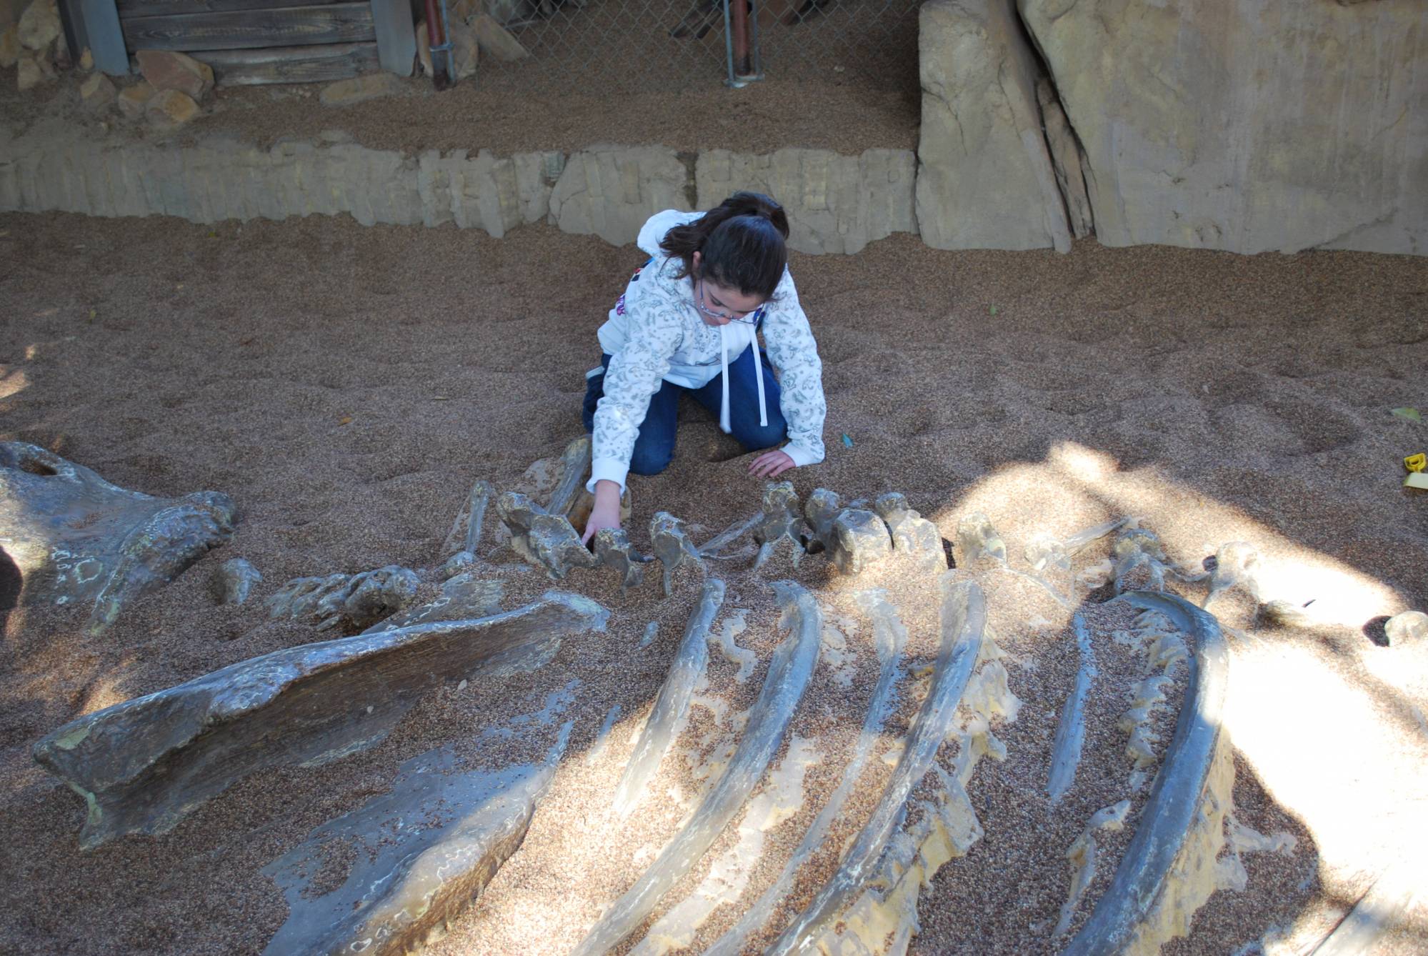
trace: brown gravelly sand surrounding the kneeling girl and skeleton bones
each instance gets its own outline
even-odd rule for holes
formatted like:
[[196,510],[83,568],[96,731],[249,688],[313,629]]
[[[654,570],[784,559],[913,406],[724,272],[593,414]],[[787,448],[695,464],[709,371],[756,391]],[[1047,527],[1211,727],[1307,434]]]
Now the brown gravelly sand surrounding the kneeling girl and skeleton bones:
[[[433,746],[460,740],[476,763],[534,759],[554,726],[511,739],[474,729],[507,726],[580,680],[564,713],[575,719],[570,756],[526,847],[438,952],[574,945],[685,812],[680,800],[658,797],[624,829],[595,839],[588,826],[604,813],[693,607],[697,584],[685,573],[670,600],[650,586],[621,599],[610,576],[573,580],[615,612],[608,634],[567,640],[538,674],[448,686],[374,750],[317,770],[256,775],[161,837],[79,855],[80,802],[30,762],[29,747],[81,713],[314,637],[307,626],[268,622],[258,604],[214,607],[208,577],[227,557],[247,557],[263,572],[260,599],[297,574],[430,566],[473,479],[508,487],[578,432],[594,330],[634,250],[545,227],[496,242],[444,229],[361,229],[346,219],[204,227],[10,214],[0,217],[0,254],[13,263],[0,277],[0,437],[44,444],[154,494],[223,490],[241,509],[230,544],[136,604],[101,639],[83,637],[71,617],[10,614],[0,669],[0,855],[11,879],[0,949],[261,949],[284,919],[281,895],[258,875],[263,865],[380,793],[397,763]],[[1419,379],[1428,367],[1424,260],[1094,243],[1070,256],[950,254],[900,236],[857,257],[795,256],[793,269],[830,402],[828,460],[793,474],[801,494],[815,486],[845,499],[900,490],[948,539],[957,519],[980,507],[1014,556],[1035,530],[1067,534],[1108,514],[1142,516],[1182,566],[1222,542],[1251,540],[1268,563],[1332,582],[1318,600],[1331,616],[1317,629],[1257,637],[1244,653],[1264,642],[1284,653],[1328,647],[1324,673],[1375,694],[1374,713],[1385,714],[1377,733],[1399,755],[1382,759],[1405,762],[1397,777],[1388,775],[1397,789],[1379,799],[1412,806],[1421,796],[1412,700],[1374,683],[1374,654],[1407,650],[1374,647],[1362,629],[1375,616],[1428,604],[1425,499],[1399,489],[1399,459],[1422,450],[1428,430],[1388,413],[1428,406]],[[701,414],[688,417],[670,470],[634,483],[638,543],[657,509],[701,526],[703,539],[757,507],[747,459],[731,457]],[[547,587],[514,566],[491,573],[507,579],[507,606]],[[783,556],[758,577],[728,573],[725,609],[748,609],[740,644],[761,662],[734,684],[733,666],[714,654],[713,693],[737,713],[757,694],[777,643],[773,599],[758,582],[795,576],[845,614],[850,584],[821,557],[797,572]],[[930,606],[924,590],[914,603],[921,610],[910,614],[912,659],[931,653]],[[638,649],[651,619],[660,636]],[[861,720],[871,690],[877,666],[867,632],[864,623],[848,636],[851,689],[830,682],[825,660],[795,716],[793,732],[815,737],[828,755],[810,769],[814,795],[835,785],[853,739],[847,727]],[[603,759],[593,767],[570,759],[590,746],[614,703],[623,716]],[[911,703],[902,702],[890,736]],[[1054,712],[1060,700],[1028,707]],[[1047,720],[1054,726],[1047,713],[1028,717],[1027,739],[1045,737]],[[701,714],[678,747],[708,733],[713,752],[727,726]],[[1288,740],[1294,726],[1282,729]],[[1021,733],[1015,727],[1008,740]],[[667,765],[658,786],[688,799],[698,779],[678,762]],[[1255,782],[1261,770],[1248,769],[1240,777],[1252,790],[1245,802],[1257,816],[1248,823],[1282,829],[1284,819],[1307,813],[1277,805],[1279,777]],[[820,863],[824,873],[888,772],[870,762],[867,786]],[[751,892],[773,877],[778,853],[791,850],[814,812],[810,802],[773,832]],[[1284,885],[1312,869],[1307,860],[1322,842],[1322,820],[1304,822],[1312,833],[1301,840],[1302,855],[1278,877],[1261,879],[1247,860],[1250,892],[1215,897],[1194,952],[1231,952],[1271,920],[1292,917],[1217,907],[1230,905],[1222,897],[1255,893],[1284,899]],[[711,857],[728,845],[725,835]],[[1352,903],[1362,873],[1355,883],[1355,860],[1341,849],[1324,846],[1324,889],[1295,890],[1295,906]],[[1038,866],[1064,875],[1064,850],[1048,846]],[[670,902],[703,877],[708,859]],[[975,849],[950,865],[961,867],[957,879],[980,866]],[[965,943],[940,935],[951,929],[940,930],[934,917],[952,879],[922,897],[920,952]],[[801,880],[800,899],[815,889]],[[700,940],[731,919],[717,915]]]

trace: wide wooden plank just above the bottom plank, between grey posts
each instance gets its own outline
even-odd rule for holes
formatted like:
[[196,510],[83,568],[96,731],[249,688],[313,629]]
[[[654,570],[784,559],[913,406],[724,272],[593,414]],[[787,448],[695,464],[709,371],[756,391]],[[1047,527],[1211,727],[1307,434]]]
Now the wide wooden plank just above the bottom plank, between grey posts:
[[134,50],[244,50],[308,43],[367,43],[376,39],[368,3],[124,20],[124,40]]

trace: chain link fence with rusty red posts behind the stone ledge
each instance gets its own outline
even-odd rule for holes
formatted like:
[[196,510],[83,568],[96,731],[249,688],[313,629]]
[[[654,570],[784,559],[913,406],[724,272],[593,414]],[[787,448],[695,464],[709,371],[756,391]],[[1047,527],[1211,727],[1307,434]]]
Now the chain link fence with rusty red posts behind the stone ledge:
[[917,7],[918,0],[488,0],[530,57],[483,60],[481,76],[541,91],[717,89],[764,77],[915,86]]

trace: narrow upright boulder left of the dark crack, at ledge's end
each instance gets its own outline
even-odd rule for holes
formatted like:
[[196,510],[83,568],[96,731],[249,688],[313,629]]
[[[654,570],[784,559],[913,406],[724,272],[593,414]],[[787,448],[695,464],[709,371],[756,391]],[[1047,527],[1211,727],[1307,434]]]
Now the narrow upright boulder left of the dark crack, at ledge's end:
[[934,249],[1071,249],[1014,0],[920,9],[917,223]]

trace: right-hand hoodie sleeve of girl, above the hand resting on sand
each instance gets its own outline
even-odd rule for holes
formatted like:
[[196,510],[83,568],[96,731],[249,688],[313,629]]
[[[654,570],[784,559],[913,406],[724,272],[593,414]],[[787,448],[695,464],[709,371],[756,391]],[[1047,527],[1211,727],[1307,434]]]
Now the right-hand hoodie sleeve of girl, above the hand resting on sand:
[[817,464],[824,456],[823,420],[828,414],[823,397],[823,362],[787,272],[764,317],[764,346],[768,360],[778,369],[778,404],[788,423],[788,444],[783,450],[794,464]]

